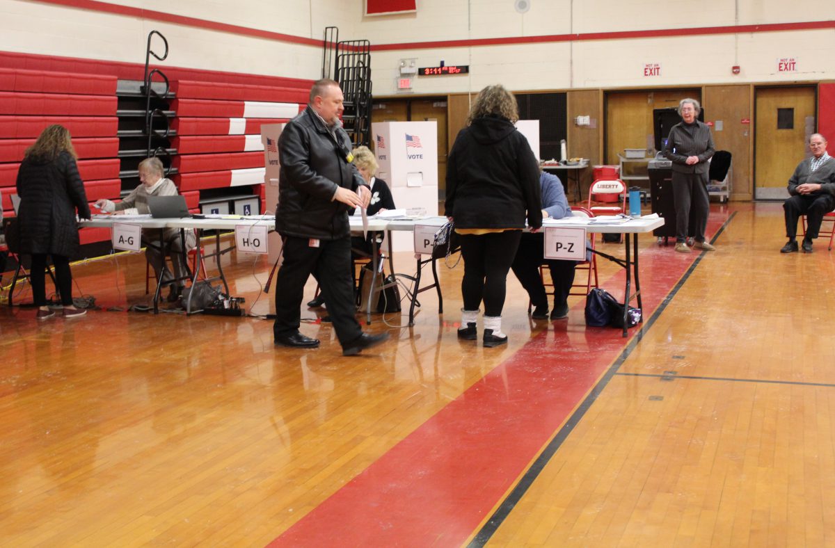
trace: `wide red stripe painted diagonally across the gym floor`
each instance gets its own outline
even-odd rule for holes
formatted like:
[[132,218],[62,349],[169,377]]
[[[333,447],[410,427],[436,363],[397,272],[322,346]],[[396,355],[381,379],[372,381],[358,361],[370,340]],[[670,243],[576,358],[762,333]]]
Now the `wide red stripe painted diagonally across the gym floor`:
[[[725,219],[712,214],[709,234]],[[645,317],[698,256],[641,250]],[[620,297],[623,284],[621,271],[606,288],[620,286]],[[619,329],[578,324],[579,306],[568,325],[551,324],[270,546],[461,545],[628,341]]]

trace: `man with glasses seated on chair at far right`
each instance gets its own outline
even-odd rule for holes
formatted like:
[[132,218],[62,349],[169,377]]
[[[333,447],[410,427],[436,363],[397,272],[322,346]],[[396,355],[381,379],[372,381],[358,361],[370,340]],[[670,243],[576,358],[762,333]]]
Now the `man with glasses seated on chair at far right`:
[[781,253],[797,251],[797,219],[801,215],[807,219],[803,251],[812,253],[812,239],[817,238],[823,215],[835,209],[835,160],[827,154],[827,139],[814,133],[809,138],[809,149],[812,157],[798,163],[788,179],[791,196],[783,202],[788,242],[780,249]]

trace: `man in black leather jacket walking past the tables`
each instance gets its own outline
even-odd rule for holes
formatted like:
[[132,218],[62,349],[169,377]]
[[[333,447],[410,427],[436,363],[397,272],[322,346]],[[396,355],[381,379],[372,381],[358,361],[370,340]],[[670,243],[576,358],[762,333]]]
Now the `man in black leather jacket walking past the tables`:
[[354,317],[349,208],[365,208],[371,192],[351,163],[351,142],[342,129],[342,90],[333,80],[313,84],[304,112],[286,124],[281,157],[276,230],[284,262],[276,278],[276,344],[316,348],[318,339],[299,333],[301,299],[316,274],[342,354],[359,354],[388,338],[369,335]]

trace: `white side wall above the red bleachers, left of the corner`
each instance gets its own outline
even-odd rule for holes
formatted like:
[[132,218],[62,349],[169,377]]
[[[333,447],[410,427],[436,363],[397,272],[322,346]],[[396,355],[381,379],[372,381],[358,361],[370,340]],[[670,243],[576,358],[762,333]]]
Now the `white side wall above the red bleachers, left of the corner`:
[[[217,23],[321,40],[336,25],[350,34],[357,10],[341,0],[121,0],[109,2]],[[358,12],[357,12],[358,13]],[[0,0],[0,50],[71,58],[144,63],[148,33],[170,44],[164,64],[289,78],[319,78],[321,46],[276,42],[149,18],[65,8],[24,0]],[[161,48],[160,48],[161,50]]]

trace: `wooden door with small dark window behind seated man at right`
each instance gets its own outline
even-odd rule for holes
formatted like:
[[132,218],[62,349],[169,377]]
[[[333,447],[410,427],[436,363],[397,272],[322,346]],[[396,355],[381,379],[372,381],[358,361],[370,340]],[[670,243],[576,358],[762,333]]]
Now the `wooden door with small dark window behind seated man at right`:
[[755,95],[754,198],[787,199],[788,178],[816,131],[815,88],[758,88]]

